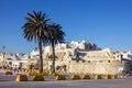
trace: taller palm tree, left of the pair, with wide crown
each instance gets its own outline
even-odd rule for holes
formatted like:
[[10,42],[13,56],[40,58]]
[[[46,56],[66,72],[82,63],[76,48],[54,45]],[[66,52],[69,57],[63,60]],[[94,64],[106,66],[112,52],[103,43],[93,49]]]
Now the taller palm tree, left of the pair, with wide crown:
[[47,40],[47,25],[50,19],[46,18],[45,13],[42,11],[33,13],[28,13],[26,23],[22,26],[24,38],[28,41],[35,41],[37,42],[37,47],[40,51],[40,63],[38,63],[38,70],[40,73],[43,72],[43,57],[42,57],[42,45]]

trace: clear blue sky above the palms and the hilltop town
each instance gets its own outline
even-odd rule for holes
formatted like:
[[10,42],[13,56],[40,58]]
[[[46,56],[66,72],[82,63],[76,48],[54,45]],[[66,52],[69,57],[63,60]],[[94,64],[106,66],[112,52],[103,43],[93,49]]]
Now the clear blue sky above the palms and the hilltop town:
[[0,0],[0,52],[30,53],[37,46],[21,30],[28,12],[43,11],[63,26],[66,42],[132,51],[131,0]]

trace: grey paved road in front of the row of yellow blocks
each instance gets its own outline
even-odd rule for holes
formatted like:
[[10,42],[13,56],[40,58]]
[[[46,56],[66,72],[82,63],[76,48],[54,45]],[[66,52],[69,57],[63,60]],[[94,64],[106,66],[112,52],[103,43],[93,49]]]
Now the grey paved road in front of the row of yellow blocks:
[[0,81],[0,88],[132,88],[132,80]]

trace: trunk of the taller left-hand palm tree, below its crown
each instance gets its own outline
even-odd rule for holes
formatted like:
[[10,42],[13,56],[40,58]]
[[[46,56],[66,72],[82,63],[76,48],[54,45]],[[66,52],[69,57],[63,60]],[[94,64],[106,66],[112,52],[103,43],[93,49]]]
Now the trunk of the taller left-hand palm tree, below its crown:
[[41,38],[38,38],[38,52],[40,52],[38,70],[40,70],[40,73],[43,73],[43,57],[42,57],[42,42],[41,42]]

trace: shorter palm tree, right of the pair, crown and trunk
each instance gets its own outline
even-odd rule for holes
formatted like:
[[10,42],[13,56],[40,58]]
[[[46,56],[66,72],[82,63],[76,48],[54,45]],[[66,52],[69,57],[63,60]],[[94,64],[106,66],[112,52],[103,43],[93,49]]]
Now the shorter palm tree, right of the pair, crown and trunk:
[[48,41],[52,44],[52,57],[53,57],[53,63],[52,63],[52,73],[55,73],[55,44],[56,43],[64,43],[64,36],[65,33],[61,30],[62,26],[59,24],[51,24],[48,25],[48,33],[50,33],[50,37]]

